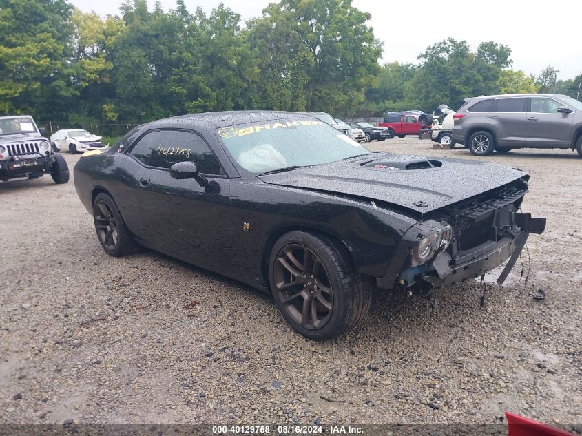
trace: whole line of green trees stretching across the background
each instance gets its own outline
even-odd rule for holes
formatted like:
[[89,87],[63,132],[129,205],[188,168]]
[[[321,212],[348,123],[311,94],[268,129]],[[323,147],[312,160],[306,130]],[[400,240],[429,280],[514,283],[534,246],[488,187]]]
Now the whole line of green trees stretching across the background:
[[483,94],[575,98],[582,79],[512,70],[510,48],[492,41],[447,39],[417,64],[380,65],[371,15],[351,0],[282,0],[246,25],[222,3],[120,9],[101,18],[65,0],[0,0],[0,113],[71,124],[249,109],[372,117]]

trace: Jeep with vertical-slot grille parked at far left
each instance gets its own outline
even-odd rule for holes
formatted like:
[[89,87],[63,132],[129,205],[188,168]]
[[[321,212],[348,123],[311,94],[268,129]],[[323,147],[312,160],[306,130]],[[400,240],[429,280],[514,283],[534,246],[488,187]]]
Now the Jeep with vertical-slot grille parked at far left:
[[67,161],[54,154],[32,116],[1,116],[0,180],[39,178],[47,173],[56,183],[69,181]]

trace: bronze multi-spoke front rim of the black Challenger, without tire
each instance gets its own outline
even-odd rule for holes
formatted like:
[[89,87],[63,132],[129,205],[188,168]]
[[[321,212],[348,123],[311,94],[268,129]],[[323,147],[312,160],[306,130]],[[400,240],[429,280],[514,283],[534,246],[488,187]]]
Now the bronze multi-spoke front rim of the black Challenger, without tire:
[[282,247],[273,265],[274,291],[289,318],[303,329],[327,324],[333,309],[333,289],[320,258],[301,244]]

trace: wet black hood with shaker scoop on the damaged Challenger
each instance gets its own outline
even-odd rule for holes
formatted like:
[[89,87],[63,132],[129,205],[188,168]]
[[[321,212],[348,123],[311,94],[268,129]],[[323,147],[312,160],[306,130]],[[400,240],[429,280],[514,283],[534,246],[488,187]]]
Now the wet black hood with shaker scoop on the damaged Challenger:
[[522,177],[529,176],[506,165],[389,153],[260,176],[273,185],[380,200],[421,215]]

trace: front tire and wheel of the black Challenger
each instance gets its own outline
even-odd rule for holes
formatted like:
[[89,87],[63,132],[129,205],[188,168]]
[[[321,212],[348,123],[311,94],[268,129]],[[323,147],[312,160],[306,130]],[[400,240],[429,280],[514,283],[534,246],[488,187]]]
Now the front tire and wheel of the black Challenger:
[[355,271],[345,249],[323,235],[291,231],[281,236],[269,258],[269,282],[283,318],[312,340],[344,335],[370,309],[371,282]]

